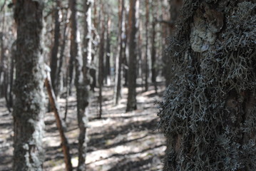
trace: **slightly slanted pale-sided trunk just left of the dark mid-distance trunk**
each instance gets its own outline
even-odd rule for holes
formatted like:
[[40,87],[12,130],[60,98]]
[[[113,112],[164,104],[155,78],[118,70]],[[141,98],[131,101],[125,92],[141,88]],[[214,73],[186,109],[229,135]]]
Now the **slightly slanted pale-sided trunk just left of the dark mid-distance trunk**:
[[114,104],[117,105],[119,98],[121,98],[121,69],[123,62],[123,10],[124,0],[119,0],[118,12],[118,53],[116,56],[116,77],[115,77],[115,90],[114,90]]

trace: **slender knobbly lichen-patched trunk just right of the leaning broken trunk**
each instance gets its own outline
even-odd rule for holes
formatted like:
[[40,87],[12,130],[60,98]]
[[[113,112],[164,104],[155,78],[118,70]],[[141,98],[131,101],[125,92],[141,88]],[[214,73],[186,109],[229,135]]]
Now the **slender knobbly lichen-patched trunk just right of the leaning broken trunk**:
[[89,66],[91,65],[91,46],[92,46],[92,33],[91,33],[91,6],[93,0],[86,0],[83,3],[83,9],[85,10],[84,18],[84,35],[83,35],[83,69],[82,76],[83,81],[79,83],[78,81],[78,127],[80,129],[78,138],[78,171],[86,170],[86,128],[88,127],[88,105],[90,100],[89,95]]

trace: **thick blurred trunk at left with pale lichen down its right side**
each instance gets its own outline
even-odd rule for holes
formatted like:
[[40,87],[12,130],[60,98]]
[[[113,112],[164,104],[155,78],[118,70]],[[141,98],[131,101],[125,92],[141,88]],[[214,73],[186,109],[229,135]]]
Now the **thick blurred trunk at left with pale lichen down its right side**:
[[42,170],[43,56],[41,31],[43,1],[16,1],[16,81],[14,93],[13,170]]

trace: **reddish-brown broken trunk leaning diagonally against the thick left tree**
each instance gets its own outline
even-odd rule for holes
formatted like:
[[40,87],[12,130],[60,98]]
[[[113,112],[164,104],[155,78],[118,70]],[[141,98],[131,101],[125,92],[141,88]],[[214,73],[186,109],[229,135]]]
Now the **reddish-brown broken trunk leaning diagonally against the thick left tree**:
[[61,136],[61,147],[62,147],[62,151],[63,151],[63,155],[64,155],[64,161],[65,161],[65,165],[66,165],[66,170],[67,171],[71,171],[73,170],[72,167],[72,163],[71,163],[71,154],[69,152],[69,145],[68,145],[68,139],[66,138],[66,135],[64,133],[63,130],[63,121],[61,120],[61,117],[59,115],[59,108],[58,108],[58,103],[56,100],[56,96],[54,94],[54,90],[53,90],[53,86],[51,84],[51,76],[49,71],[46,71],[47,76],[46,79],[44,81],[44,84],[47,88],[47,92],[48,92],[48,96],[49,96],[49,100],[51,103],[51,108],[53,109],[53,113],[56,119],[56,125],[58,128],[58,133]]

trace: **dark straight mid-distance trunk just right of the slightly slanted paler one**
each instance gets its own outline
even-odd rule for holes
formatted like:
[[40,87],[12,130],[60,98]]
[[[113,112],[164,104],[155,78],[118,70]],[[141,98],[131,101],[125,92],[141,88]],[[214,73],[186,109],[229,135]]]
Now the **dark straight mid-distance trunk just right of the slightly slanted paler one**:
[[138,29],[138,26],[136,26],[136,17],[138,16],[138,3],[139,1],[137,0],[130,0],[128,100],[127,100],[126,112],[137,109],[137,104],[136,104],[137,55],[135,53],[135,49],[136,49],[136,32]]

